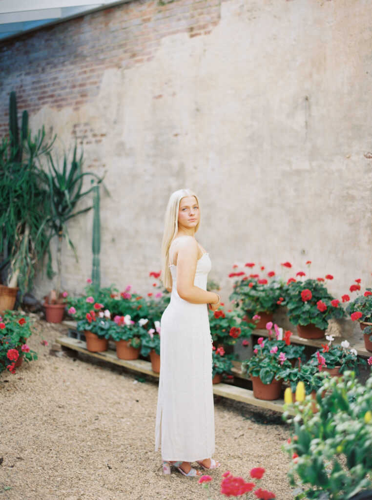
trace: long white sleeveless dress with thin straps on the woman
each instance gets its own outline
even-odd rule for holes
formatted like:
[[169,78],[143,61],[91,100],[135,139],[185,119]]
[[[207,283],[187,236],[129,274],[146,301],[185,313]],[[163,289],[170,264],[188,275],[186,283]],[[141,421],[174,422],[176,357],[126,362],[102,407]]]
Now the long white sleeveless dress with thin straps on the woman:
[[[204,253],[194,285],[206,289],[211,263]],[[214,453],[212,343],[206,304],[180,298],[177,267],[170,265],[172,291],[160,324],[160,378],[155,450],[161,434],[163,460],[193,462]]]

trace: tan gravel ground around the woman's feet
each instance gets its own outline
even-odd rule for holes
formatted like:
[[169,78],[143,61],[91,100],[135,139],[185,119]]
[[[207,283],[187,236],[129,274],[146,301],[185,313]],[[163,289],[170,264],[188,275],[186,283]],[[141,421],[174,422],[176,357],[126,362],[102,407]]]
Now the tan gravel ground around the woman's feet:
[[154,451],[156,379],[81,354],[50,355],[67,328],[35,318],[28,343],[38,360],[0,374],[0,500],[217,500],[224,471],[249,480],[256,466],[266,469],[262,488],[293,498],[281,451],[289,427],[278,413],[215,397],[221,467],[209,489],[164,476]]

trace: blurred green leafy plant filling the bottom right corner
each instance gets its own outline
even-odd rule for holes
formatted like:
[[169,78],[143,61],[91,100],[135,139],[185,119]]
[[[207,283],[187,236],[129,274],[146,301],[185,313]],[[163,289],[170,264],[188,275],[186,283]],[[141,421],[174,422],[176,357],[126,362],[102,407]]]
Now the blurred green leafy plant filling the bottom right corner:
[[370,498],[372,376],[365,387],[352,371],[341,380],[326,378],[316,399],[317,413],[306,396],[303,404],[291,406],[294,417],[283,414],[292,423],[284,449],[292,459],[288,477],[295,499]]

